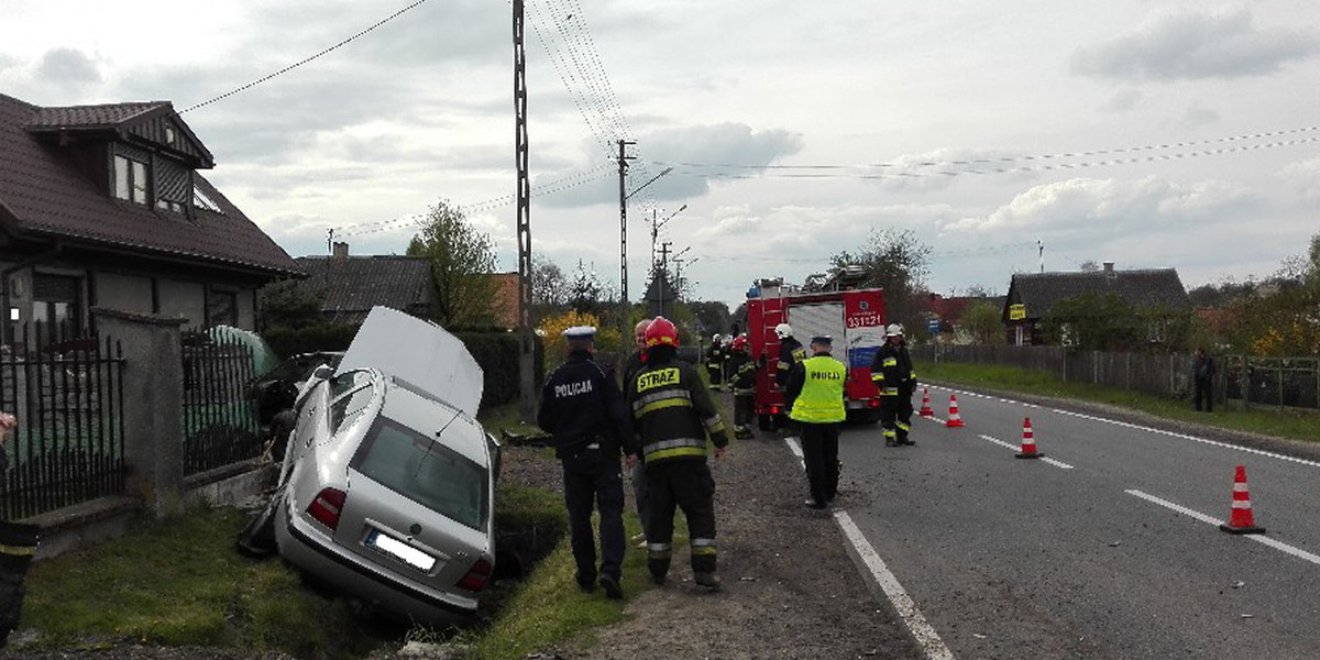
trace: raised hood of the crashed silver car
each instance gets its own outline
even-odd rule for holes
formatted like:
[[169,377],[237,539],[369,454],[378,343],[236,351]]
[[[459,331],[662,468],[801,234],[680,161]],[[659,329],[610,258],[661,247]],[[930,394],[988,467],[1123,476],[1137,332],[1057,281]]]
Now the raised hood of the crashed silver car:
[[477,417],[482,367],[463,342],[436,323],[389,308],[371,308],[338,374],[375,368]]

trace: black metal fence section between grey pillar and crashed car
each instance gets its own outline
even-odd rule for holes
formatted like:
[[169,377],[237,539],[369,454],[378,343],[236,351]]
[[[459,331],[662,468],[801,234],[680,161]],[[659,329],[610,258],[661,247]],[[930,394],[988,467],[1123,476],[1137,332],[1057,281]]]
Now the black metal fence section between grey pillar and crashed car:
[[261,454],[248,387],[252,350],[232,338],[194,335],[183,345],[183,474]]

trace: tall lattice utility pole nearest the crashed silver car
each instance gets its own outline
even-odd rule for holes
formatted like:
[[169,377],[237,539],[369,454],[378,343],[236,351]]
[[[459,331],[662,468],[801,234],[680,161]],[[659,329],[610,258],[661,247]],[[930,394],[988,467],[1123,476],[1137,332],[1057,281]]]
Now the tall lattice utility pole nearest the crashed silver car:
[[527,170],[527,50],[524,0],[513,0],[513,160],[517,164],[517,325],[519,412],[524,422],[536,420],[533,374],[536,335],[532,330],[532,185]]

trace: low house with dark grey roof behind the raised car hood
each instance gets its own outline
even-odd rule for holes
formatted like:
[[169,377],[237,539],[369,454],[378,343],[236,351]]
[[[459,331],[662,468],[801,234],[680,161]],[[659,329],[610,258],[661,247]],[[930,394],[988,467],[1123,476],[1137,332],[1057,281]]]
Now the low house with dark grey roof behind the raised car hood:
[[350,256],[347,243],[335,243],[330,256],[300,256],[296,261],[308,273],[298,288],[321,298],[326,322],[362,323],[376,305],[436,318],[440,293],[426,257]]

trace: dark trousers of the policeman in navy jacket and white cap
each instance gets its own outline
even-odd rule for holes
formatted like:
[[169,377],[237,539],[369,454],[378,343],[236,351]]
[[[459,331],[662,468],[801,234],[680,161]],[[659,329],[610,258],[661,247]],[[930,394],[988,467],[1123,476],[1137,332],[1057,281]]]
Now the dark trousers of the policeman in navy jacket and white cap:
[[623,562],[623,474],[619,458],[589,449],[564,459],[564,503],[569,508],[578,583],[595,582],[595,533],[591,508],[601,511],[601,573],[619,577]]

